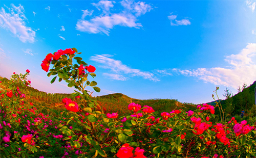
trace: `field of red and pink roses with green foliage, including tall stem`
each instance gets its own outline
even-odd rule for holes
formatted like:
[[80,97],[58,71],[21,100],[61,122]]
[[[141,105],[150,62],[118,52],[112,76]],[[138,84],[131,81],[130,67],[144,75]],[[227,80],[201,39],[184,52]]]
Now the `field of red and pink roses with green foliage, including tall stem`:
[[[255,157],[255,117],[216,121],[221,105],[195,110],[164,109],[130,103],[126,113],[104,113],[86,90],[96,68],[75,57],[75,48],[48,54],[41,67],[77,89],[62,98],[59,115],[46,114],[20,90],[30,86],[25,74],[14,73],[0,93],[1,157]],[[77,64],[73,64],[76,60]],[[52,66],[50,68],[50,66]],[[18,86],[17,86],[18,85]],[[103,108],[103,107],[102,107]],[[219,114],[218,114],[219,115]]]

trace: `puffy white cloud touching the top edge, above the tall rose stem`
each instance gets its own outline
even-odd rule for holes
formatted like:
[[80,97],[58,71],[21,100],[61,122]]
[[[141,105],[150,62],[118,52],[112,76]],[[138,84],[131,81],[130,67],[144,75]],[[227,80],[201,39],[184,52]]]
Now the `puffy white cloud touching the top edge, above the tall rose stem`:
[[136,28],[142,27],[141,23],[137,23],[138,17],[152,10],[152,7],[144,2],[134,2],[131,0],[123,0],[120,4],[123,8],[119,13],[111,13],[111,8],[115,8],[114,1],[100,1],[92,3],[102,13],[99,16],[94,16],[86,20],[87,16],[93,14],[92,11],[82,10],[83,14],[81,19],[76,23],[76,30],[88,33],[104,33],[109,35],[110,30],[116,25],[122,27]]

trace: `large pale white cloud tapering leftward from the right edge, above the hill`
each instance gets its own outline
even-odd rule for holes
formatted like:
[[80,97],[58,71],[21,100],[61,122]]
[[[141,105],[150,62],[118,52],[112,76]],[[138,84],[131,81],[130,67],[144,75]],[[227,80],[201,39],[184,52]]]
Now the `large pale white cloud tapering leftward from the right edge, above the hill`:
[[256,80],[256,43],[248,43],[237,55],[227,56],[225,61],[230,68],[198,68],[196,70],[173,69],[185,76],[199,78],[206,83],[237,88],[244,83],[251,84]]

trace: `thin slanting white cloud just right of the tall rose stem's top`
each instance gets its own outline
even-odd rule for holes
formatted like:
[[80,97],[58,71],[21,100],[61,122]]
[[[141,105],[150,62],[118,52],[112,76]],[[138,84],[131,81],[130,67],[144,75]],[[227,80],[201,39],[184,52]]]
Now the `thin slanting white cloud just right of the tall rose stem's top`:
[[112,58],[109,58],[109,55],[95,55],[91,57],[92,61],[95,61],[97,63],[101,63],[101,67],[104,69],[110,69],[111,72],[114,73],[104,73],[104,75],[111,77],[114,80],[127,80],[128,77],[125,77],[124,75],[129,76],[140,76],[144,79],[151,80],[151,81],[159,81],[157,77],[154,76],[151,72],[141,71],[139,69],[132,69],[124,64],[122,64],[121,61],[115,60]]

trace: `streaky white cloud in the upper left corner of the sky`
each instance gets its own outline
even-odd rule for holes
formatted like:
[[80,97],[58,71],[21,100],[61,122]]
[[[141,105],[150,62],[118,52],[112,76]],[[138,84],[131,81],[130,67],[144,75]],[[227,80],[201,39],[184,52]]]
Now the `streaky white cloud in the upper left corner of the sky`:
[[18,7],[11,4],[11,8],[6,7],[10,13],[7,13],[4,8],[0,11],[0,24],[1,27],[9,30],[14,36],[18,37],[22,42],[34,42],[35,32],[26,27],[25,20],[27,20],[24,12],[24,7]]

